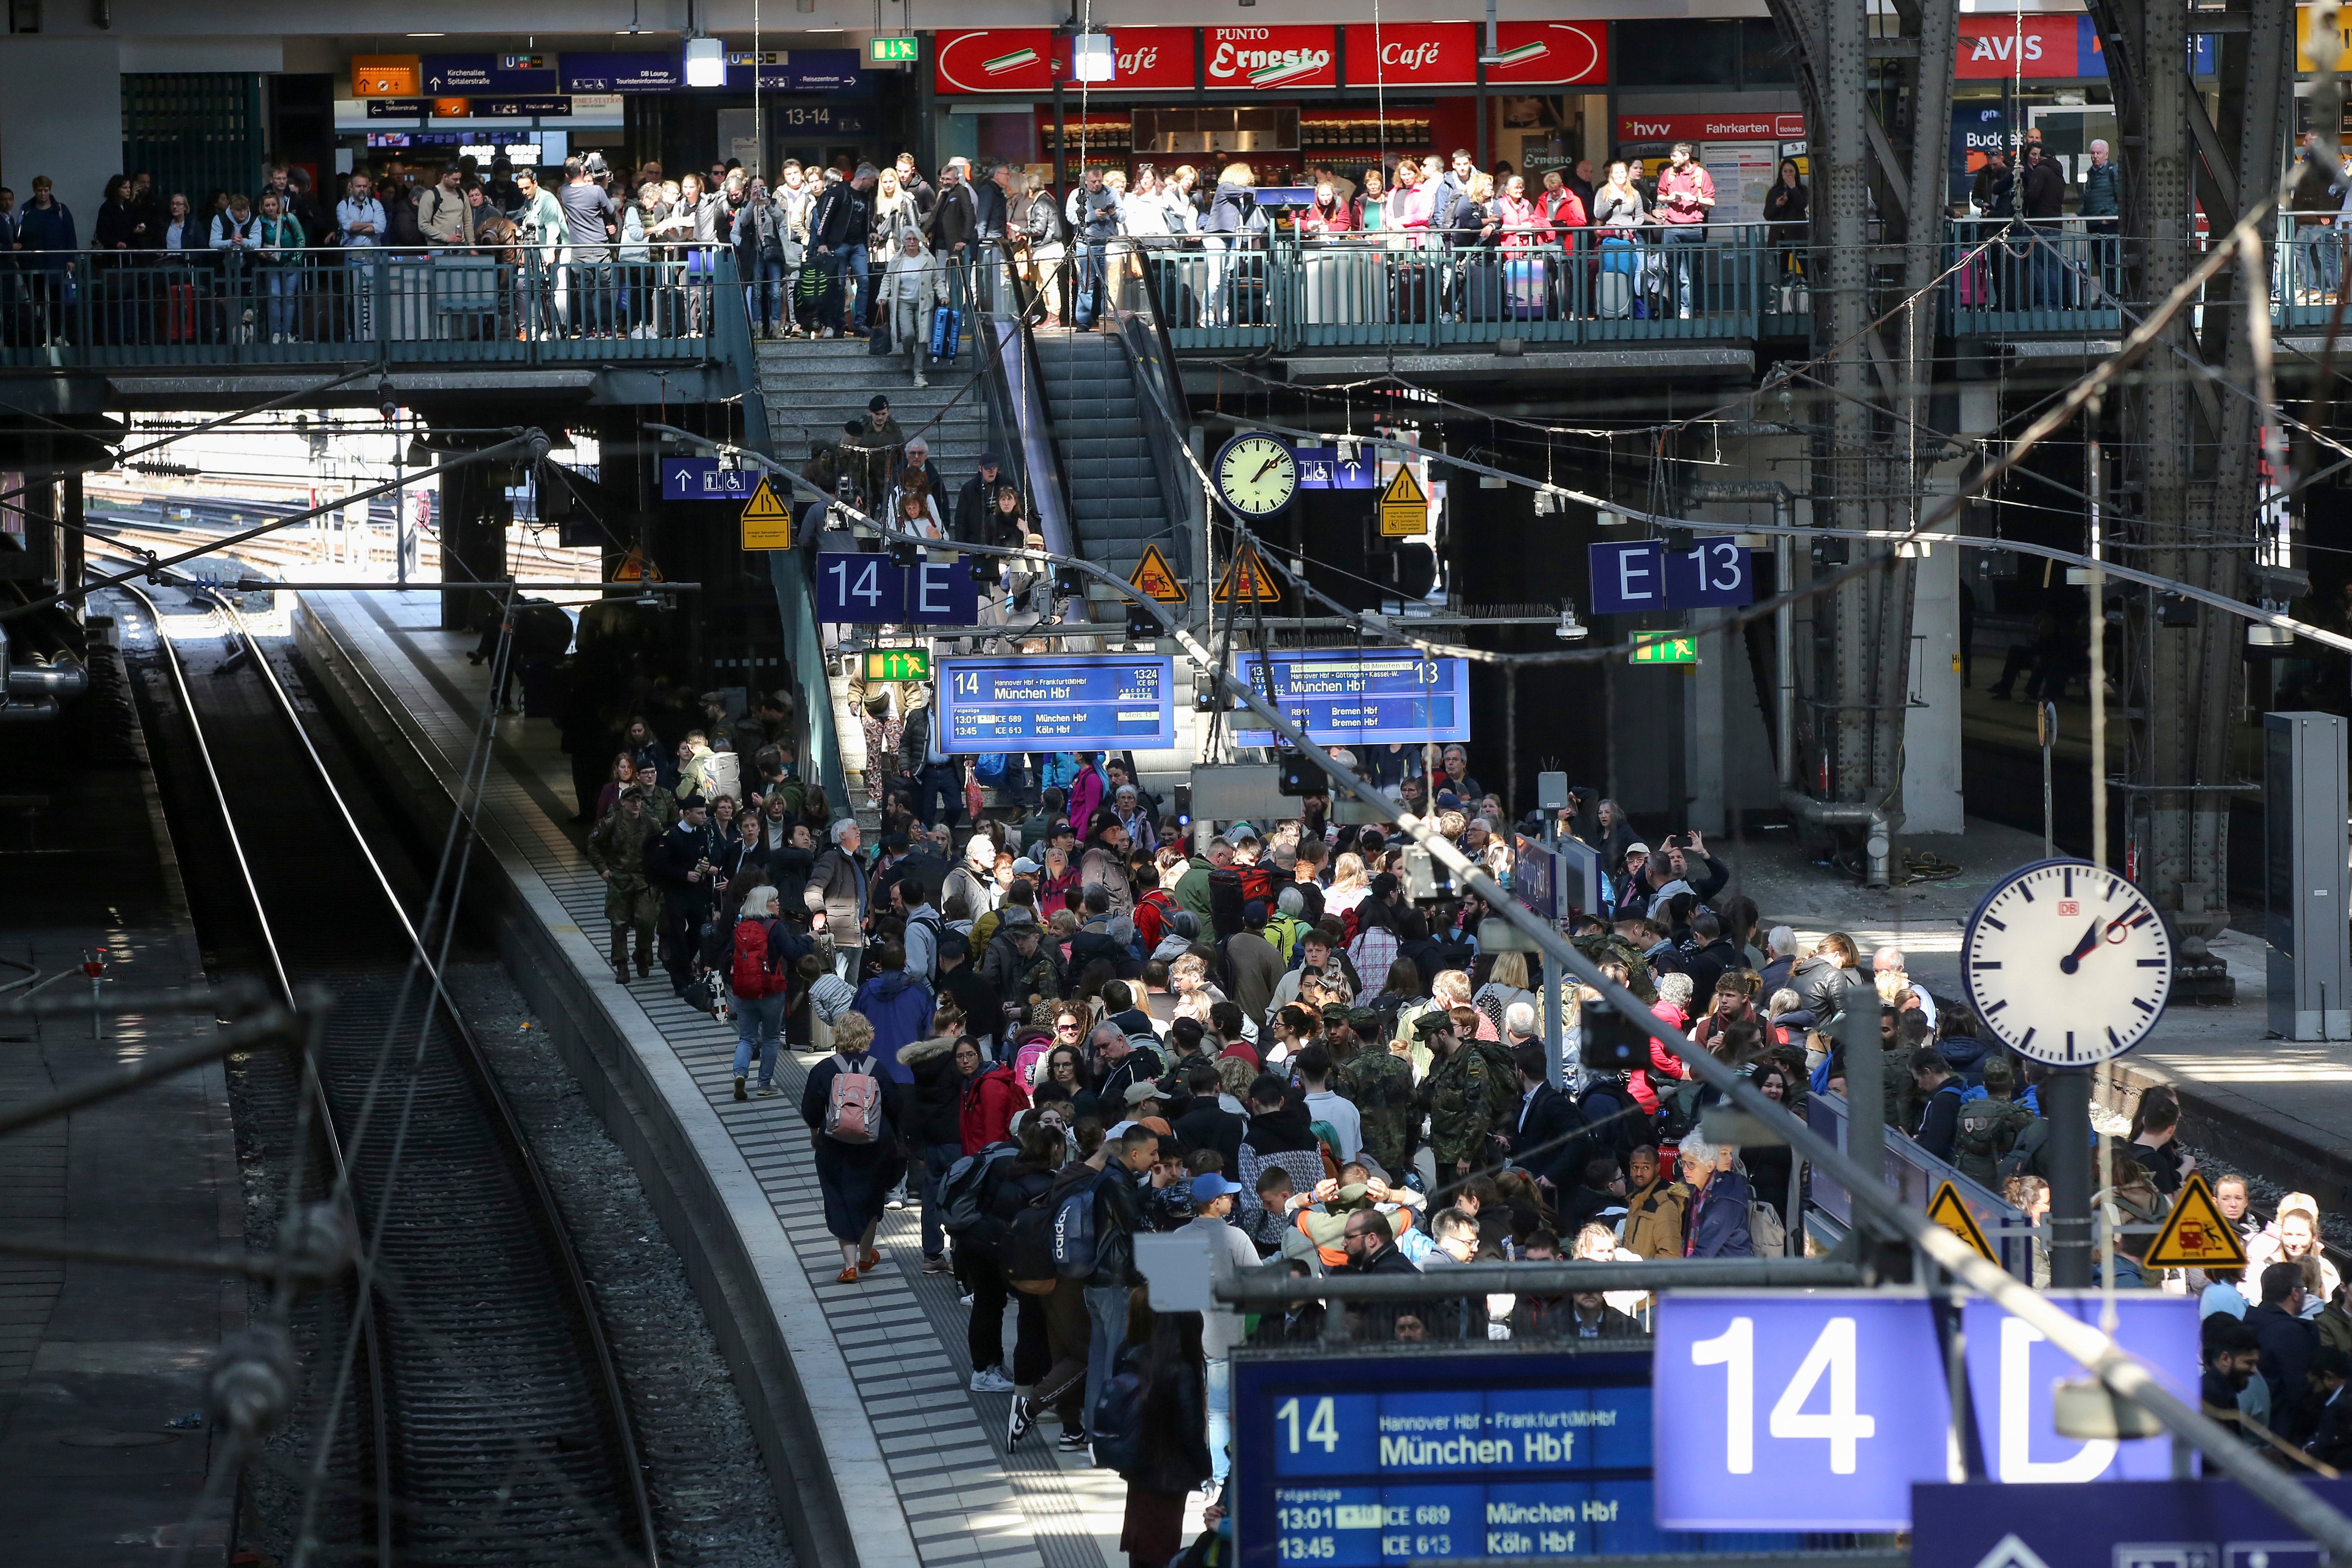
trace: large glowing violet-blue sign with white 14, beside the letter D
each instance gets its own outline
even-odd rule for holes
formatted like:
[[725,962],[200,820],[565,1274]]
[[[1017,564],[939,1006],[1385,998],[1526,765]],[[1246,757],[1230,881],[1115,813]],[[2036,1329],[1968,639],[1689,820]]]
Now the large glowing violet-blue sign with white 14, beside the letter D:
[[1945,1476],[1950,1394],[1910,1295],[1665,1295],[1658,1523],[1668,1530],[1907,1530]]

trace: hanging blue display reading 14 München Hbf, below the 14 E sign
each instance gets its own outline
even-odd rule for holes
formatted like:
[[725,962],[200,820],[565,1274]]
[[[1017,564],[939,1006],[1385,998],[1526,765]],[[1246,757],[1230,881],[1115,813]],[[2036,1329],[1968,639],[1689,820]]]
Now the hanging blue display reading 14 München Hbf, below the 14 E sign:
[[1176,745],[1176,661],[1152,656],[943,658],[955,752],[1160,750]]

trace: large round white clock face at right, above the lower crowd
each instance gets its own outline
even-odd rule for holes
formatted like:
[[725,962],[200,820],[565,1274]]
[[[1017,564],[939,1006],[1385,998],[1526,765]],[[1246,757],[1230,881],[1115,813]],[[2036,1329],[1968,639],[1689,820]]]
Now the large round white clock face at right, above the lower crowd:
[[2131,1051],[2173,990],[2173,943],[2154,905],[2089,860],[2042,860],[1994,882],[1959,961],[1985,1027],[2060,1067]]

